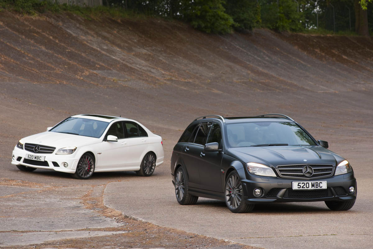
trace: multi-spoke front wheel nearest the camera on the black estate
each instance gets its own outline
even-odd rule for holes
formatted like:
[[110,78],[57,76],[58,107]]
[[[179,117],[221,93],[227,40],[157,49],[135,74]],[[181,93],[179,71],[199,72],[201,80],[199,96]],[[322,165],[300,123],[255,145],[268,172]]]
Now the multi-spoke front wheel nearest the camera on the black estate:
[[242,201],[244,191],[237,171],[232,171],[225,181],[225,204],[233,213],[247,213],[253,210],[255,204]]

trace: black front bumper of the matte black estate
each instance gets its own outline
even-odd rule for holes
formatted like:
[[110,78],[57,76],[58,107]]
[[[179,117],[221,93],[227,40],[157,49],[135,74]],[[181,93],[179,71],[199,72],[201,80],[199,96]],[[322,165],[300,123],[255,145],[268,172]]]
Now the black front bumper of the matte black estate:
[[[279,177],[252,177],[250,180],[241,180],[244,188],[246,203],[264,202],[318,202],[318,201],[348,201],[355,200],[357,195],[356,179],[353,172],[308,181],[326,181],[327,189],[324,190],[292,190],[293,181],[307,181],[307,179],[285,179]],[[348,189],[355,187],[354,193]],[[263,191],[259,197],[254,196],[257,187]]]

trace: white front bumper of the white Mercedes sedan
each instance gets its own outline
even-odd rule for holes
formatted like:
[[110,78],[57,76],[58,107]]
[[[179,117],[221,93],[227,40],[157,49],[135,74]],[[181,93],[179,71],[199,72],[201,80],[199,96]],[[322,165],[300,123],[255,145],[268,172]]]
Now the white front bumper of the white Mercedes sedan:
[[[35,161],[26,159],[26,154],[36,155],[36,156],[45,156],[45,161]],[[76,165],[78,165],[79,158],[76,158],[76,153],[70,155],[56,155],[52,154],[42,154],[42,153],[33,153],[27,150],[19,149],[15,147],[12,153],[12,164],[13,165],[23,165],[31,168],[37,169],[51,169],[60,172],[66,173],[75,173]],[[67,162],[68,167],[64,167],[63,163]]]

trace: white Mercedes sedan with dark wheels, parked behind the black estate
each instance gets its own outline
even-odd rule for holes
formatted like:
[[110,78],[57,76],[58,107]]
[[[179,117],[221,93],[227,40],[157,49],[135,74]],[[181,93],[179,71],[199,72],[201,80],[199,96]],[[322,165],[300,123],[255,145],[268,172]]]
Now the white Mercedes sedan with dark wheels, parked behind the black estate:
[[109,171],[150,176],[163,158],[162,137],[139,122],[81,114],[19,140],[12,164],[22,171],[53,169],[88,179],[94,172]]

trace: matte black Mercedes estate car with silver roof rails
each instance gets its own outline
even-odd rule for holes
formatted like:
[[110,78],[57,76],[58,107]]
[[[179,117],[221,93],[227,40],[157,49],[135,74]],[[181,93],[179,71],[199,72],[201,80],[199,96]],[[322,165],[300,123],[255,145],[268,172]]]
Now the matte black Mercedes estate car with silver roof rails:
[[181,205],[198,196],[225,200],[235,213],[269,202],[325,201],[332,210],[348,210],[356,199],[354,172],[327,148],[282,114],[199,117],[173,148],[176,199]]

